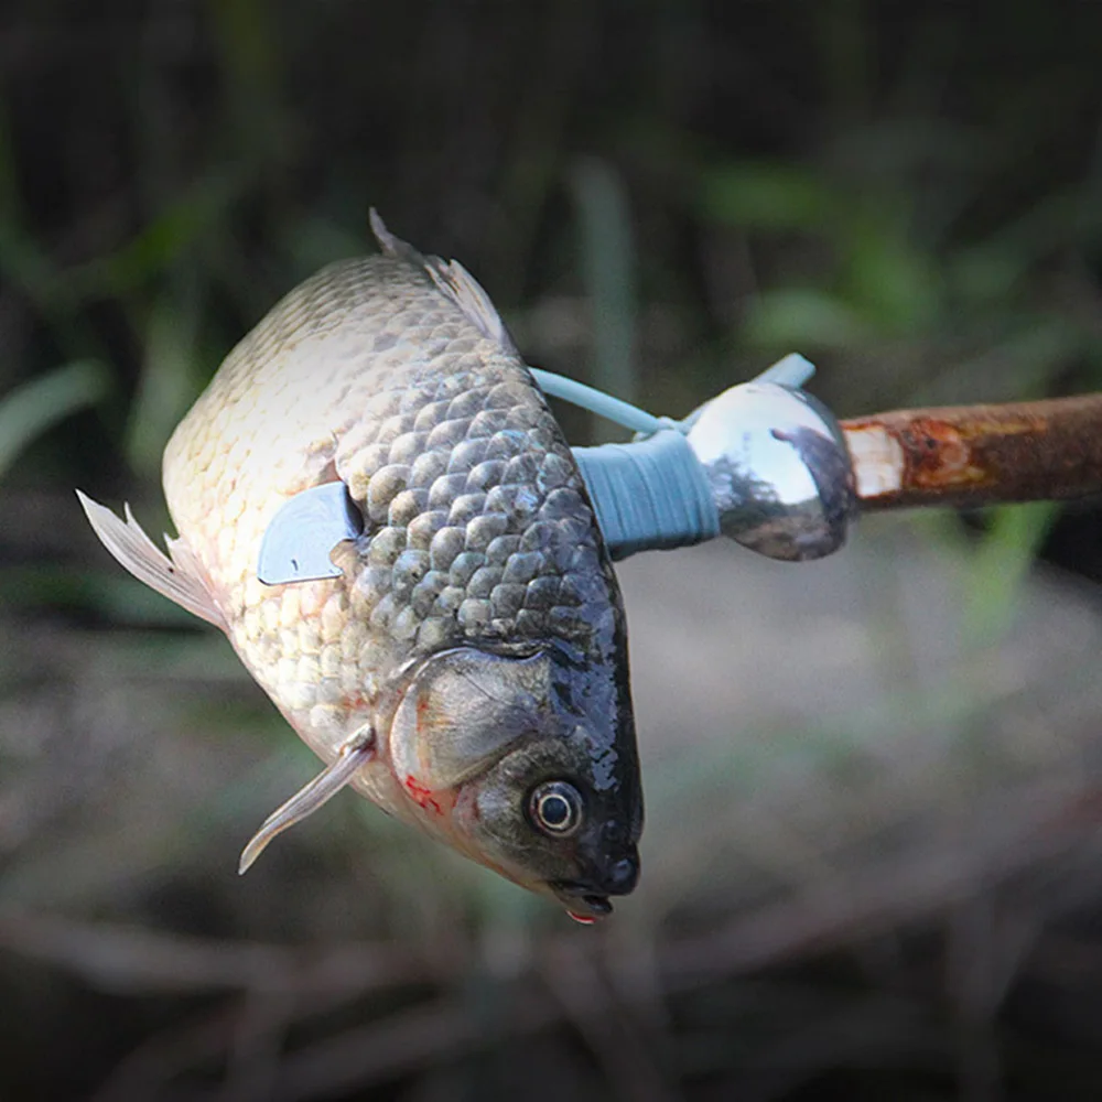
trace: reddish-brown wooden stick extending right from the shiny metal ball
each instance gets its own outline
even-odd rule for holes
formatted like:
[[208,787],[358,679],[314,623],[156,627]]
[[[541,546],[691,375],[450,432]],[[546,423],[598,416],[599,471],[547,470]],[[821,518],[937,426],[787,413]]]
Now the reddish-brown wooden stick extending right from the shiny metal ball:
[[1102,495],[1102,395],[842,421],[862,510]]

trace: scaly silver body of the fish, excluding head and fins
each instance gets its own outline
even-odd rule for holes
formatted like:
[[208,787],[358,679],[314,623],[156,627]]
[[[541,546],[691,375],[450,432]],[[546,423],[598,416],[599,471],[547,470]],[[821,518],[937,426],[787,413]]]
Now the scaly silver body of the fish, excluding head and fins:
[[[345,576],[264,586],[264,529],[332,478],[369,541]],[[372,257],[292,291],[227,357],[165,451],[177,529],[230,639],[332,759],[414,653],[463,640],[605,639],[619,596],[570,451],[517,354],[423,272]],[[357,787],[400,810],[381,764]]]

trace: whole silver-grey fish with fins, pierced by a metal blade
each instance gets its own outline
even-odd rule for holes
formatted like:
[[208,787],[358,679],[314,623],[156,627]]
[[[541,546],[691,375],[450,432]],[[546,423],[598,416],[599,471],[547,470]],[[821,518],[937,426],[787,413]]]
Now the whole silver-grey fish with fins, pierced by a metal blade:
[[[639,876],[624,604],[562,431],[487,293],[372,209],[379,252],[285,295],[176,426],[162,551],[77,490],[131,574],[219,628],[345,787],[579,921]],[[334,576],[267,584],[273,518],[341,484]],[[339,490],[338,490],[339,493]],[[300,498],[301,499],[301,498]]]

